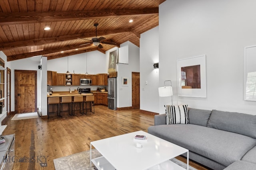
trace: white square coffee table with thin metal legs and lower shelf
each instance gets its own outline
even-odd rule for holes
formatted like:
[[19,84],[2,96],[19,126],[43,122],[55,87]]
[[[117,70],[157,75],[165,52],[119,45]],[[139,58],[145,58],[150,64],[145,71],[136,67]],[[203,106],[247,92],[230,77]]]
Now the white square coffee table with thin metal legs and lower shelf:
[[[136,147],[136,135],[148,138],[147,142],[141,142],[142,148]],[[92,159],[92,146],[102,156]],[[90,162],[98,170],[184,170],[170,159],[186,152],[188,170],[188,149],[144,131],[136,131],[91,142]]]

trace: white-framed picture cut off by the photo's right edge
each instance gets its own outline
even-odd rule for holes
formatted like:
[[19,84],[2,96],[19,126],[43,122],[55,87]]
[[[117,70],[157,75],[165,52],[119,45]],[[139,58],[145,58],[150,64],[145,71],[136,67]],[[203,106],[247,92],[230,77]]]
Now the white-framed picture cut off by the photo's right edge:
[[256,45],[244,48],[244,100],[256,101]]

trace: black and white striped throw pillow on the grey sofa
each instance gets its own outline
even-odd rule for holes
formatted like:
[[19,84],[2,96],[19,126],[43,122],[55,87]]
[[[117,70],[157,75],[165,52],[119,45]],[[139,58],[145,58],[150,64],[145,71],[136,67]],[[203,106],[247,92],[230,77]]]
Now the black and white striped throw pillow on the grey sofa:
[[164,105],[166,124],[188,124],[188,105]]

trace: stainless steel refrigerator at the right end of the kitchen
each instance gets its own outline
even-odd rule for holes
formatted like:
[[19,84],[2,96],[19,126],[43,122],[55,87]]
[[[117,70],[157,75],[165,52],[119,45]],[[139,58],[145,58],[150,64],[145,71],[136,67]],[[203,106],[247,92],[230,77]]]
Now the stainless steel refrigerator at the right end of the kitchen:
[[116,78],[108,78],[108,108],[116,110]]

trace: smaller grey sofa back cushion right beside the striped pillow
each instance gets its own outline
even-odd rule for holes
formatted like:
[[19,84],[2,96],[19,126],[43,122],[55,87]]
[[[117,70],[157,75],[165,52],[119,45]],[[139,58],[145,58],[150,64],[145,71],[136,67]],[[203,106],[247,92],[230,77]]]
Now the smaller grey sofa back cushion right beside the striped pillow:
[[190,124],[207,126],[211,110],[188,108],[188,120]]

